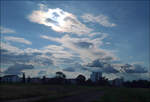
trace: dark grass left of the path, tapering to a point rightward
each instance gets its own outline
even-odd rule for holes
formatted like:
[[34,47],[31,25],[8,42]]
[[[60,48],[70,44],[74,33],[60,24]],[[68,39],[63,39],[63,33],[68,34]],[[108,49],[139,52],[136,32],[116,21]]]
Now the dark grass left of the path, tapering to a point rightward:
[[75,85],[0,84],[0,100],[13,100],[39,96],[42,96],[44,99],[56,99],[88,90],[93,90],[93,88]]

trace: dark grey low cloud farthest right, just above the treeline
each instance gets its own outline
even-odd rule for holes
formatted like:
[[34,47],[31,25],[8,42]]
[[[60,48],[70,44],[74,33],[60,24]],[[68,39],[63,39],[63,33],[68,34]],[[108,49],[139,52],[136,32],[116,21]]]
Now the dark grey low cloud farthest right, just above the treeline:
[[139,64],[125,64],[121,66],[121,70],[126,73],[147,73],[145,67]]

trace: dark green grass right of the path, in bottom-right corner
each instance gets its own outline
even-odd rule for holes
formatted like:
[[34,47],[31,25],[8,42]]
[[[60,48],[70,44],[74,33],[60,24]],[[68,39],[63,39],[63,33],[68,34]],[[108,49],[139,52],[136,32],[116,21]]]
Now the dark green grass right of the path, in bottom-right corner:
[[103,96],[94,102],[150,102],[150,89],[107,88]]

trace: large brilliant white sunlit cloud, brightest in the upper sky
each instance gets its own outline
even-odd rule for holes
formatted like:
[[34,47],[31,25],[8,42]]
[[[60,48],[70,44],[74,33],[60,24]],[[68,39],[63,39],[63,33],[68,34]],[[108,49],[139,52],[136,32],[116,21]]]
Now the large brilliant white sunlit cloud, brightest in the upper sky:
[[[45,10],[46,9],[46,10]],[[31,22],[50,27],[56,32],[67,32],[77,35],[88,34],[92,31],[81,23],[75,15],[60,8],[50,9],[44,6],[40,10],[35,10],[28,16]]]

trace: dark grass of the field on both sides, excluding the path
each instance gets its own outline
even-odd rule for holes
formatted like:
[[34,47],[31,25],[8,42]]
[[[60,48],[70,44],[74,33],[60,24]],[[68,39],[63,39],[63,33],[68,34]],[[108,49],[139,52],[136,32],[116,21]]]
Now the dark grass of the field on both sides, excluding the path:
[[150,89],[40,84],[1,84],[0,100],[43,96],[36,102],[48,102],[78,95],[82,92],[88,93],[92,90],[103,92],[100,98],[93,102],[150,102]]

